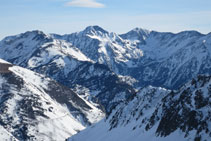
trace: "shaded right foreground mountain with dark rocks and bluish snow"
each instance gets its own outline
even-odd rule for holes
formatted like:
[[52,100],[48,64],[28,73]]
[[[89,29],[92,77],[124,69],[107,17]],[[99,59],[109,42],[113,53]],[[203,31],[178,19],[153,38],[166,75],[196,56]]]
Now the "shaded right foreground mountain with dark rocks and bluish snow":
[[198,76],[177,91],[149,86],[69,141],[208,141],[210,106],[210,76]]

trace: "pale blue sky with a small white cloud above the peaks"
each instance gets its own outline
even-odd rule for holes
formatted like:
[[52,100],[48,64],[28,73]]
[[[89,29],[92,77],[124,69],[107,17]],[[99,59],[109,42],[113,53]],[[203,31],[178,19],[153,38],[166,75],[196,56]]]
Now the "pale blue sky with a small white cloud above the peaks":
[[211,32],[211,0],[0,0],[0,39],[28,30],[72,33],[89,25],[124,33]]

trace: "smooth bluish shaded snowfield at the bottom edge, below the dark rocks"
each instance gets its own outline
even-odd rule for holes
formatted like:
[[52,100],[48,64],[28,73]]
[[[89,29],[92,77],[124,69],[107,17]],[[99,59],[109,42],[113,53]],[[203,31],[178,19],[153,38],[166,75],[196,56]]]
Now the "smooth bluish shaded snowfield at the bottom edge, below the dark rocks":
[[144,132],[139,127],[133,130],[136,125],[137,122],[134,121],[127,126],[117,127],[109,131],[108,123],[102,120],[81,131],[78,135],[72,136],[68,141],[187,141],[178,130],[170,136],[157,137],[154,134],[156,126],[150,131]]

